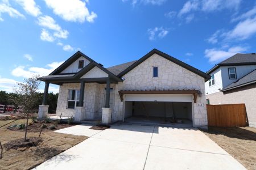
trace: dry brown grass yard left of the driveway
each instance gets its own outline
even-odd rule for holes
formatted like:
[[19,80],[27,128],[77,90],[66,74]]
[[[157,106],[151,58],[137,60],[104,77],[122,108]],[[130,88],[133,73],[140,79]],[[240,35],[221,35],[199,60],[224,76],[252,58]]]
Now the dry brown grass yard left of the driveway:
[[[24,130],[9,130],[7,127],[14,124],[22,124],[25,121],[26,120],[17,120],[0,128],[0,141],[2,145],[14,139],[24,137]],[[5,125],[7,122],[10,121],[0,121],[0,125]],[[37,130],[32,130],[32,125],[31,129],[28,130],[28,137],[38,137],[38,128],[34,127]],[[35,125],[36,124],[34,124],[34,126]],[[56,129],[65,128],[66,126],[67,124],[60,126],[56,125]],[[40,142],[38,146],[21,147],[17,150],[10,149],[7,151],[4,148],[3,158],[0,159],[0,169],[34,168],[36,165],[45,162],[49,158],[52,158],[52,156],[60,154],[60,152],[63,152],[88,138],[84,136],[56,133],[48,128],[43,129],[41,137],[43,141]]]

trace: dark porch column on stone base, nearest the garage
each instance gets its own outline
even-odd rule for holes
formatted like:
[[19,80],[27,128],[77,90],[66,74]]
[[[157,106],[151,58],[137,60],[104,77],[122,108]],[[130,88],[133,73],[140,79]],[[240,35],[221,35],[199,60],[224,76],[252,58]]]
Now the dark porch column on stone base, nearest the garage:
[[108,125],[111,123],[112,120],[112,109],[109,107],[109,100],[110,100],[110,78],[106,81],[106,100],[104,108],[102,108],[102,117],[101,123]]

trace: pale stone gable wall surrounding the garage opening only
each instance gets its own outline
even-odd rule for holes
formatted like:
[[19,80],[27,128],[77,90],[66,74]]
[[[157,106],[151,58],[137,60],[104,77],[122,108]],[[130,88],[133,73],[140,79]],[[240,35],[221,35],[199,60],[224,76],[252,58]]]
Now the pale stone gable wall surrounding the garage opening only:
[[[158,78],[153,78],[152,66],[158,66]],[[191,71],[176,65],[166,58],[153,54],[129,73],[123,76],[125,80],[115,85],[114,108],[112,121],[123,120],[123,102],[121,102],[119,90],[201,90],[203,95],[197,96],[193,103],[195,126],[207,125],[207,109],[205,105],[204,78]],[[203,104],[200,107],[198,104]]]

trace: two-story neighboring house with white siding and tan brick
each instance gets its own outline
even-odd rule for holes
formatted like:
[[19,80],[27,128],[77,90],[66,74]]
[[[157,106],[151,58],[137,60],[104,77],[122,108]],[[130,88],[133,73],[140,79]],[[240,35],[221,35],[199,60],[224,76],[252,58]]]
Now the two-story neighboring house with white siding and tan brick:
[[205,82],[208,104],[245,103],[250,126],[256,127],[256,54],[236,54],[218,63]]

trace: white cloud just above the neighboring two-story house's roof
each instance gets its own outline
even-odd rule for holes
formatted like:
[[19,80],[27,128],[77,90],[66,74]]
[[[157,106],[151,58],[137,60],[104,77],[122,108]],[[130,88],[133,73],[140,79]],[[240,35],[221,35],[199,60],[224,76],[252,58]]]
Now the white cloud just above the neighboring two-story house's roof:
[[242,53],[247,50],[246,47],[243,46],[233,46],[228,50],[220,50],[220,49],[206,49],[204,54],[205,57],[209,59],[209,62],[220,62],[226,58],[234,56],[234,54]]

